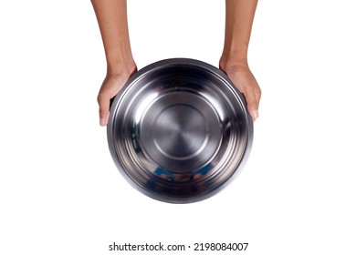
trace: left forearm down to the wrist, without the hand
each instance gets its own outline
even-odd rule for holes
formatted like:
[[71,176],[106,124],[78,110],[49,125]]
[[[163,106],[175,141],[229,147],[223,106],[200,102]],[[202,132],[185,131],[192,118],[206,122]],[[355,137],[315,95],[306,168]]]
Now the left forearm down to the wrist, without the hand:
[[108,72],[133,62],[126,0],[91,0],[105,48]]

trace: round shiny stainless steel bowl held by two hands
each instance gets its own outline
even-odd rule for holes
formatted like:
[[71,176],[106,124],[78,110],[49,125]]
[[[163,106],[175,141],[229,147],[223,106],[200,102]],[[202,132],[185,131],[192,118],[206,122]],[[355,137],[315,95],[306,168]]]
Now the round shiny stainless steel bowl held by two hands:
[[152,199],[207,199],[241,172],[253,124],[243,95],[215,66],[173,58],[131,76],[110,108],[120,173]]

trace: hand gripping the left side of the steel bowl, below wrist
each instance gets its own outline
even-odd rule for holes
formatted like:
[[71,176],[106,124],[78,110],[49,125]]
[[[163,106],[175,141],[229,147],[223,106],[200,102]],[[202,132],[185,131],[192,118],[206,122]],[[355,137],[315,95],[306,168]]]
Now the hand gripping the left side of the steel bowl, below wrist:
[[137,72],[135,64],[131,67],[117,68],[116,71],[108,72],[99,90],[99,124],[104,127],[108,125],[110,116],[110,99],[115,97],[128,78]]

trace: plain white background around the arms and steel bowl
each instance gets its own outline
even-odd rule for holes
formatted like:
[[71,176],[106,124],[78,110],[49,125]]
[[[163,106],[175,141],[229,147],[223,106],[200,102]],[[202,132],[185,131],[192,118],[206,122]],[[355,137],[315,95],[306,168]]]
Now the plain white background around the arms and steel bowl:
[[[113,241],[356,254],[354,11],[351,0],[259,2],[249,62],[263,98],[246,168],[215,197],[172,205],[131,188],[110,158],[89,0],[2,1],[0,254],[115,254]],[[129,0],[129,22],[139,68],[177,56],[217,66],[223,1]]]

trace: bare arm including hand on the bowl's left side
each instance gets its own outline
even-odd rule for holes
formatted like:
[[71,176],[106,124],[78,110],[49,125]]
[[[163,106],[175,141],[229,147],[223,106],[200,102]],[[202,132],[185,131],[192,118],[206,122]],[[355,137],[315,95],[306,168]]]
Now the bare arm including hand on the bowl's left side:
[[107,76],[98,95],[100,125],[109,120],[110,99],[135,72],[131,53],[126,0],[91,0],[107,59]]

